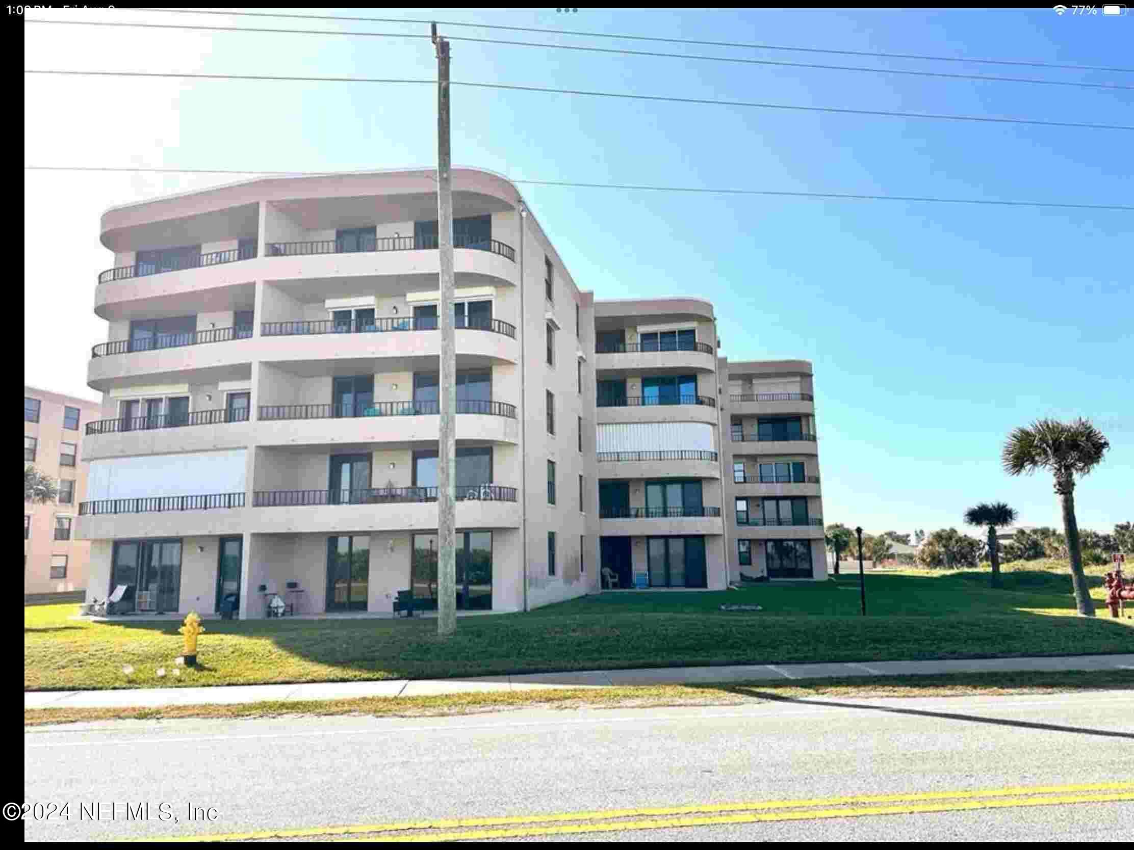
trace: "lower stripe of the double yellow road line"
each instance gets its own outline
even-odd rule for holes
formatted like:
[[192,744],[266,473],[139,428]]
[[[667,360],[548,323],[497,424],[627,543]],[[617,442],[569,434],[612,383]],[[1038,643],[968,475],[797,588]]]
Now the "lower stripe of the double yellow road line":
[[485,839],[518,839],[536,835],[577,835],[594,832],[628,832],[636,830],[670,830],[685,826],[719,826],[726,824],[767,823],[771,821],[820,821],[835,817],[865,817],[870,815],[917,815],[931,811],[964,811],[972,809],[1023,808],[1031,806],[1066,806],[1074,802],[1116,802],[1134,800],[1134,793],[1102,794],[1098,797],[1044,797],[1024,800],[976,800],[930,806],[886,806],[875,808],[810,809],[775,814],[721,815],[717,817],[683,817],[666,821],[619,821],[617,823],[574,824],[569,826],[531,827],[525,830],[473,830],[468,832],[431,832],[414,835],[376,835],[365,839],[337,839],[338,841],[476,841]]

